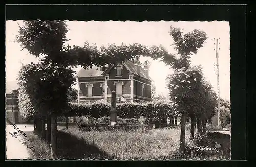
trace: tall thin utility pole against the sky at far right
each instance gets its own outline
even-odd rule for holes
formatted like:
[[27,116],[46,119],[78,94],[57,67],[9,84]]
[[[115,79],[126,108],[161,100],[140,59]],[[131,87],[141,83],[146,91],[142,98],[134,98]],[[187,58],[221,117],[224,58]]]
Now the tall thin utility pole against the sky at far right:
[[217,93],[218,93],[218,100],[217,100],[217,111],[218,111],[218,128],[221,128],[221,114],[220,114],[220,78],[219,78],[219,39],[214,38],[214,45],[215,45],[215,53],[216,53],[216,75],[217,75]]

